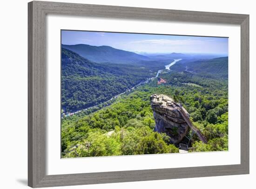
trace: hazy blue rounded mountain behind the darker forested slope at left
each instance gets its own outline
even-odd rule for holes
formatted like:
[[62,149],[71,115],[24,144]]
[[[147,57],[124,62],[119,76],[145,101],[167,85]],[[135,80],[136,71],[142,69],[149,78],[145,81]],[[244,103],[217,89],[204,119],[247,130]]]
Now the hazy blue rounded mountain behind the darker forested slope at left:
[[62,44],[62,48],[71,50],[81,57],[87,58],[96,63],[137,63],[139,61],[150,60],[149,57],[136,54],[134,52],[115,49],[110,46],[92,46],[88,44]]

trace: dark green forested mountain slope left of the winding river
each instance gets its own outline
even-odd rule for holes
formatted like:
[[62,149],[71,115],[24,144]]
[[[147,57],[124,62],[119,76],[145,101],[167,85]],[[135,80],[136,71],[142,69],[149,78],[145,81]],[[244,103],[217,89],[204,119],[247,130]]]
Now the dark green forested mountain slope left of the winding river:
[[94,63],[64,48],[61,52],[61,72],[61,105],[66,112],[108,101],[154,76],[145,67]]

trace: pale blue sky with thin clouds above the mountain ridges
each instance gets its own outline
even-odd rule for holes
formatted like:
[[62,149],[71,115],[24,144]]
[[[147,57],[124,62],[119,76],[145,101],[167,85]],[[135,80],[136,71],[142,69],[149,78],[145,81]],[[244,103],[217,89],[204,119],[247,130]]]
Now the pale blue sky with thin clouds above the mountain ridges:
[[216,37],[62,30],[61,43],[107,45],[133,52],[228,55],[228,38]]

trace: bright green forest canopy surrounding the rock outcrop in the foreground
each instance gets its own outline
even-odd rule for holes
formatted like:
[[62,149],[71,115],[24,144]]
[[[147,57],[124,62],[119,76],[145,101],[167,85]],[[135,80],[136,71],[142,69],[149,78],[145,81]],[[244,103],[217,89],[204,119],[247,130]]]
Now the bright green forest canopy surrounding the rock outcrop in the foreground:
[[[188,77],[182,81],[197,79]],[[149,101],[152,93],[173,96],[184,103],[195,126],[209,141],[203,144],[194,136],[195,151],[228,150],[227,83],[210,79],[207,86],[206,80],[201,81],[198,84],[203,88],[179,81],[178,85],[157,86],[153,81],[95,113],[62,119],[62,157],[178,152],[175,145],[169,144],[166,134],[153,131],[155,120]]]

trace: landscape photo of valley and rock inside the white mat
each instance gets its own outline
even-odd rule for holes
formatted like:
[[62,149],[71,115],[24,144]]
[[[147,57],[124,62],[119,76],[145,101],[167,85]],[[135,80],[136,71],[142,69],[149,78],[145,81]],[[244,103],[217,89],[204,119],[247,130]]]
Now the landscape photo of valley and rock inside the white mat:
[[61,158],[228,151],[229,38],[61,30]]

